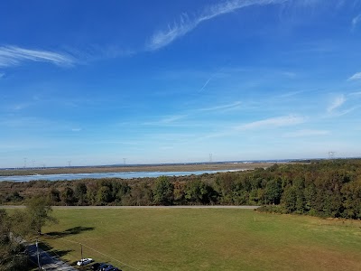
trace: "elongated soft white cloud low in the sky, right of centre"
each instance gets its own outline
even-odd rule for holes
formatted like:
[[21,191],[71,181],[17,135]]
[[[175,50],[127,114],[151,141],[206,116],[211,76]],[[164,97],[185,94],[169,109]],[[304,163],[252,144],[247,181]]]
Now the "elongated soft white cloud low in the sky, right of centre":
[[237,126],[238,130],[249,130],[249,129],[257,129],[264,127],[281,127],[281,126],[293,126],[298,125],[305,122],[304,117],[297,116],[282,116],[282,117],[271,117],[263,120],[258,120],[255,122],[247,123],[242,126]]

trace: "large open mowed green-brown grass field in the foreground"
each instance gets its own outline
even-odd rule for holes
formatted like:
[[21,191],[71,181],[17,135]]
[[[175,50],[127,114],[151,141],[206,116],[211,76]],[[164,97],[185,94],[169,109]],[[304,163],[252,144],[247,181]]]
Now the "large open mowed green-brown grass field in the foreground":
[[[230,209],[54,210],[64,259],[123,270],[361,270],[361,222]],[[102,254],[92,250],[93,248]],[[106,257],[108,256],[108,257]],[[120,262],[129,266],[125,266]],[[130,267],[134,266],[136,269]]]

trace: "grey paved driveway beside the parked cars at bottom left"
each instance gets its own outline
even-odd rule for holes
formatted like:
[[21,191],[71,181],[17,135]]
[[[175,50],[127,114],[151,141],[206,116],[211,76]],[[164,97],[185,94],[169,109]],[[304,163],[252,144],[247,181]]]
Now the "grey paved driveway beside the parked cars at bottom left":
[[[36,253],[36,246],[35,244],[32,244],[28,246],[28,253],[32,259],[32,262],[37,263],[37,253]],[[61,261],[57,257],[51,257],[47,252],[43,251],[41,248],[39,248],[39,257],[40,257],[40,263],[43,270],[57,270],[57,271],[77,271],[74,267],[71,267]]]

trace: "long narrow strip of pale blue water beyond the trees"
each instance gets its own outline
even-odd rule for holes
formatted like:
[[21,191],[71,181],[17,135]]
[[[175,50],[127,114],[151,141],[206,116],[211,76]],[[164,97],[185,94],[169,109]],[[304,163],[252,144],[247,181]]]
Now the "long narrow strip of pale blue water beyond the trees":
[[197,172],[127,172],[127,173],[69,173],[69,174],[45,174],[45,175],[24,175],[24,176],[0,176],[0,182],[30,182],[30,181],[72,181],[80,179],[102,179],[102,178],[156,178],[159,176],[188,176],[191,174],[200,175],[204,173],[226,173],[240,170],[219,170],[219,171],[197,171]]

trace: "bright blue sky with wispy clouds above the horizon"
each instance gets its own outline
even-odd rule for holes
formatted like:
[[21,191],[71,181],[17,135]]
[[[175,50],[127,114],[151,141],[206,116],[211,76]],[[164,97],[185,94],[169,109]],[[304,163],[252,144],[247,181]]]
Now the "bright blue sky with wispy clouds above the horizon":
[[0,2],[0,167],[361,156],[360,0]]

